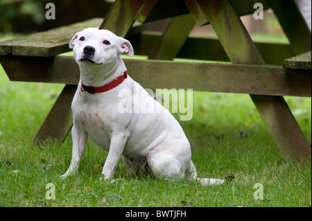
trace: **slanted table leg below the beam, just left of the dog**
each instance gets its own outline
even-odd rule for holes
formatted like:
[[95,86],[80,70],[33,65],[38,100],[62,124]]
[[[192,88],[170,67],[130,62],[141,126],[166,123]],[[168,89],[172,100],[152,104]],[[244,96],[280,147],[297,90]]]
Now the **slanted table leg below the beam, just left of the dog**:
[[64,87],[35,136],[34,143],[43,143],[46,139],[57,139],[59,141],[65,139],[73,125],[71,100],[73,100],[76,89],[76,85],[66,85]]

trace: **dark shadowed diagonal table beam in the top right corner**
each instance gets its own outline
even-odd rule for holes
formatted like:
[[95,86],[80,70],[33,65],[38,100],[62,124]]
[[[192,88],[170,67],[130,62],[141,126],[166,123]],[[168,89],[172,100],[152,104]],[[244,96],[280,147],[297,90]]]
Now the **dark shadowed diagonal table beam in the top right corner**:
[[300,55],[306,51],[311,51],[311,30],[304,21],[295,1],[267,1],[279,19],[279,24],[291,42],[295,54]]

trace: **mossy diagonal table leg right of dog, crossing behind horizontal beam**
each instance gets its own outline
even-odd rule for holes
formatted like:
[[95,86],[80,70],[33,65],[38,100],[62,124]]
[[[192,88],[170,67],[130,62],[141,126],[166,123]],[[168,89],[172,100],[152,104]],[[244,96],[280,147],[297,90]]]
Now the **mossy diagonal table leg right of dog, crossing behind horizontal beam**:
[[[226,0],[198,0],[229,59],[236,64],[265,64],[252,39]],[[281,96],[251,95],[285,159],[311,158],[311,148]]]

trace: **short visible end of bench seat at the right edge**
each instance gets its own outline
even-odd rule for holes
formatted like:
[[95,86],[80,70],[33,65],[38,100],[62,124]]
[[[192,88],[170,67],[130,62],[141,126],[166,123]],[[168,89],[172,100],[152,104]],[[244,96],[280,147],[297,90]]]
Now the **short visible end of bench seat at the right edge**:
[[311,51],[284,60],[284,68],[311,70]]

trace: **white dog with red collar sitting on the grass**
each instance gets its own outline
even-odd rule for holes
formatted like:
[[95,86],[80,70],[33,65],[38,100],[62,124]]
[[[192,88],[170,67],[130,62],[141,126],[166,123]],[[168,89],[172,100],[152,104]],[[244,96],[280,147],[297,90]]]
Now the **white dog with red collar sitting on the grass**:
[[[187,177],[198,179],[202,185],[222,184],[222,179],[197,178],[191,161],[187,136],[175,118],[148,95],[126,72],[120,54],[134,55],[128,40],[109,30],[86,28],[69,43],[80,68],[80,82],[73,98],[73,152],[71,164],[62,177],[74,173],[83,156],[87,136],[108,151],[103,177],[111,179],[119,159],[141,173],[146,167],[160,179]],[[139,94],[134,88],[139,87]],[[157,113],[121,113],[123,97],[119,90],[131,91],[132,107],[144,102],[161,109]]]

